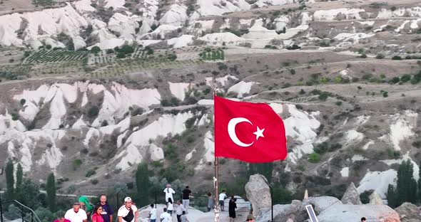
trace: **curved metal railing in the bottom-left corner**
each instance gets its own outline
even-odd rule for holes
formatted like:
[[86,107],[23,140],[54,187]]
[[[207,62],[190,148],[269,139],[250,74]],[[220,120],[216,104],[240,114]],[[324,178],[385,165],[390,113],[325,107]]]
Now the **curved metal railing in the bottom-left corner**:
[[[7,211],[4,211],[3,206],[10,206],[11,204],[12,207],[9,207],[7,208]],[[19,213],[16,213],[16,211],[10,211],[13,209],[16,209]],[[21,218],[22,222],[41,222],[34,210],[16,200],[4,201],[0,203],[1,222],[4,222],[4,218],[7,218],[8,221],[14,221]]]

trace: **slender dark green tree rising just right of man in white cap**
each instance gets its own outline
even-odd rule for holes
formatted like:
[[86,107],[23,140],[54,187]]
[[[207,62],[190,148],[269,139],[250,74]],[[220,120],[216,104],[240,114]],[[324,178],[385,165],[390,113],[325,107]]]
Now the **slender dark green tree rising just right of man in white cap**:
[[138,164],[138,170],[136,171],[136,189],[138,197],[141,197],[138,201],[140,206],[146,206],[149,203],[149,175],[148,175],[148,164]]

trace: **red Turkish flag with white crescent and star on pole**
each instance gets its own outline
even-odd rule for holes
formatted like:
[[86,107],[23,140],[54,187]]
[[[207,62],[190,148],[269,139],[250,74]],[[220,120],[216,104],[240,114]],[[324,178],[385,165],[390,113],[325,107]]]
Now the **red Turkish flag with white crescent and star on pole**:
[[214,96],[215,157],[273,162],[287,156],[285,127],[266,103]]

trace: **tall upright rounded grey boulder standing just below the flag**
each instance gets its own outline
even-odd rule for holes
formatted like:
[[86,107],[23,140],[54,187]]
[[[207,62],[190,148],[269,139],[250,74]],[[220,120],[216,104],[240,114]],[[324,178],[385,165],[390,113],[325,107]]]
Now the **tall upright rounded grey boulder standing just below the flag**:
[[253,215],[258,216],[261,211],[270,210],[270,189],[265,176],[254,174],[245,184],[245,194],[253,207]]

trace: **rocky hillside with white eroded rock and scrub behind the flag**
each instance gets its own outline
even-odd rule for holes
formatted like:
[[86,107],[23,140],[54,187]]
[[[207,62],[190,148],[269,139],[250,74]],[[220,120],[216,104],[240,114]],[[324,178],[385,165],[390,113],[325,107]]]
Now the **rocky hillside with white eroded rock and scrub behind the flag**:
[[[96,194],[147,162],[211,189],[213,89],[283,117],[291,191],[385,199],[406,159],[419,178],[417,1],[20,1],[0,5],[0,160],[41,183]],[[246,169],[223,159],[223,186]]]

